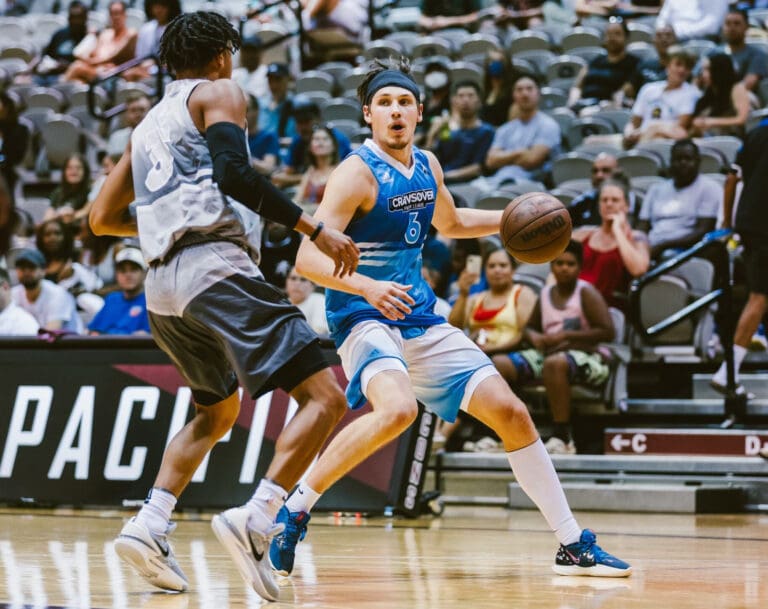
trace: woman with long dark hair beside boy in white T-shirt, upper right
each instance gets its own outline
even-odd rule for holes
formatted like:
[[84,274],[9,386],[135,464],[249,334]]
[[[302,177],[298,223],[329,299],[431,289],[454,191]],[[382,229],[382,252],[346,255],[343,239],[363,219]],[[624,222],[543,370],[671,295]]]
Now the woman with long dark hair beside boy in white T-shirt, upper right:
[[724,53],[714,53],[701,60],[704,94],[696,102],[692,137],[735,135],[744,137],[749,116],[749,91],[739,82],[733,62]]

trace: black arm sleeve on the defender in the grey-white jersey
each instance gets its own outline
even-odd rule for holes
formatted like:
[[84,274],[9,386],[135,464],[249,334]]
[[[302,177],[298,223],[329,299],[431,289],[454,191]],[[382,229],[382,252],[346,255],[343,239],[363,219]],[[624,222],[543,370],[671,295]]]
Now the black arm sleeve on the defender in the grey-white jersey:
[[213,179],[221,192],[267,220],[289,228],[296,226],[301,207],[251,167],[241,127],[234,123],[214,123],[206,129],[205,139],[213,159]]

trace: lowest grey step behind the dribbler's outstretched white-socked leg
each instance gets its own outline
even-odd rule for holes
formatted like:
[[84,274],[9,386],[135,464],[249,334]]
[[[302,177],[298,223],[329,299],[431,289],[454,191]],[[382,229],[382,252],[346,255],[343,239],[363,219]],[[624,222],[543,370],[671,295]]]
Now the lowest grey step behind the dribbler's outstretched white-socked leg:
[[[595,484],[564,482],[563,490],[574,510],[607,512],[675,512],[683,514],[727,514],[744,511],[745,490],[739,486],[713,484]],[[509,507],[534,509],[533,502],[513,482],[509,485]]]

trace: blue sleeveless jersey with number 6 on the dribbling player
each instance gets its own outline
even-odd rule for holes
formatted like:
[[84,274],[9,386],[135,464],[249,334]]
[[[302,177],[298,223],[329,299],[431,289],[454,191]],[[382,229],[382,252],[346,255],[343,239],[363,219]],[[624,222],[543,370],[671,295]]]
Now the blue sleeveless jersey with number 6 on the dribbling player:
[[358,273],[382,281],[412,285],[416,301],[402,320],[389,320],[362,296],[326,290],[328,327],[337,345],[352,328],[368,319],[404,328],[425,328],[445,323],[435,315],[435,294],[421,276],[421,248],[429,233],[437,198],[437,183],[427,156],[413,151],[411,167],[404,167],[367,140],[352,154],[371,169],[379,192],[370,212],[354,218],[344,231],[360,248]]

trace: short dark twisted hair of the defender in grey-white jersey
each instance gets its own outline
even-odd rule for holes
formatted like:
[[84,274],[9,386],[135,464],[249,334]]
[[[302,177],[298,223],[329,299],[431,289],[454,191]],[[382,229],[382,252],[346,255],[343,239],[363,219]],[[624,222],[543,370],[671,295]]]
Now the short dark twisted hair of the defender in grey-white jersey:
[[160,39],[160,62],[173,74],[199,70],[225,51],[234,53],[240,44],[240,34],[218,13],[184,13],[168,24]]

